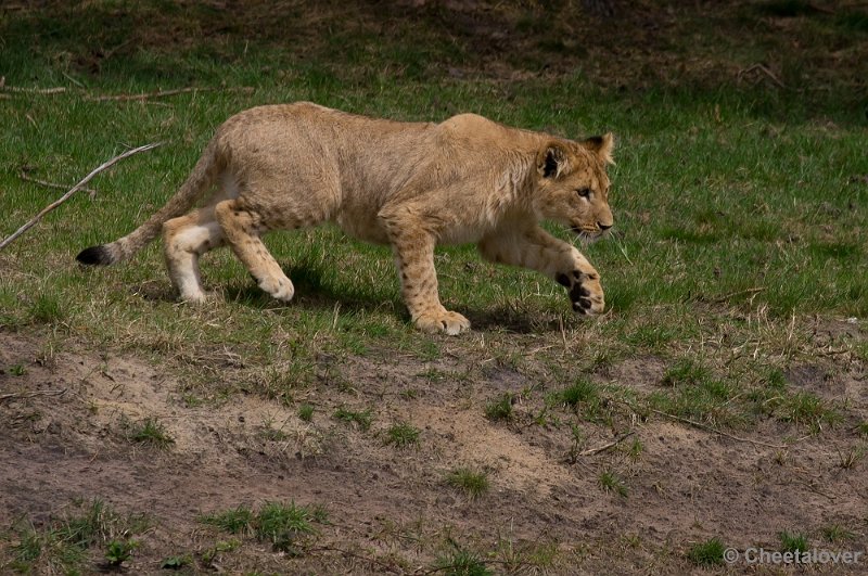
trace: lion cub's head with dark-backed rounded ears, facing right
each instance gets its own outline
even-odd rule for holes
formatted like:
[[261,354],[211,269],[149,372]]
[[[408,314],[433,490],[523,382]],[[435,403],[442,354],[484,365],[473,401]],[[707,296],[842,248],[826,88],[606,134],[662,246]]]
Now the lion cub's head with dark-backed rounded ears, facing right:
[[552,140],[537,154],[534,212],[540,219],[569,226],[586,240],[614,223],[609,208],[609,176],[614,138],[611,133],[580,142]]

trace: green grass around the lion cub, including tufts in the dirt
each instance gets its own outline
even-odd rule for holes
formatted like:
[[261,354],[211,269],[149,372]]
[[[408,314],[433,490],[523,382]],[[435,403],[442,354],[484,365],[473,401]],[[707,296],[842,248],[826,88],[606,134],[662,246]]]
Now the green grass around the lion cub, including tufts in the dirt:
[[[665,418],[655,411],[738,436],[767,431],[771,418],[775,444],[805,431],[817,441],[839,428],[868,436],[853,407],[788,380],[793,366],[834,380],[868,360],[868,30],[857,7],[824,14],[810,2],[748,2],[706,13],[682,3],[667,15],[649,3],[615,26],[588,21],[575,2],[486,4],[485,22],[512,30],[505,47],[480,18],[437,2],[387,17],[340,2],[312,12],[280,3],[268,14],[243,3],[49,4],[0,16],[0,236],[62,193],[33,179],[67,187],[122,150],[166,144],[100,175],[89,184],[95,194],[79,192],[0,252],[0,332],[49,342],[39,359],[3,357],[13,383],[71,350],[131,355],[179,373],[189,409],[256,395],[289,407],[324,445],[343,441],[345,425],[367,432],[381,421],[396,422],[384,426],[387,443],[421,451],[429,447],[396,419],[395,402],[482,406],[475,417],[510,434],[539,413],[528,435],[544,436],[544,447],[572,444],[574,460],[586,438],[653,426]],[[637,17],[649,18],[640,29],[666,30],[653,50],[630,34]],[[583,37],[611,41],[576,42]],[[190,87],[202,90],[99,99]],[[158,242],[107,269],[74,263],[162,205],[231,114],[295,100],[404,120],[471,111],[570,137],[612,130],[616,234],[579,248],[601,273],[607,313],[576,318],[557,283],[483,261],[473,246],[447,246],[435,255],[442,299],[474,331],[421,334],[391,251],[332,226],[266,238],[296,283],[290,305],[264,296],[228,249],[203,258],[217,293],[205,308],[174,302]],[[191,360],[225,350],[243,361]],[[630,371],[630,362],[641,366]],[[531,381],[529,394],[503,392]],[[144,446],[175,443],[156,418],[124,432]],[[382,444],[379,433],[360,436]],[[424,444],[435,438],[451,448],[434,434]],[[613,455],[644,465],[653,449],[637,438]],[[861,461],[856,447],[840,455],[843,469]],[[611,469],[596,479],[627,494]],[[467,469],[446,482],[471,498],[489,489],[485,472]],[[253,536],[260,510],[245,510],[229,511],[231,528],[220,529]],[[304,514],[296,520],[303,526]],[[16,558],[36,572],[78,565],[81,548],[55,528],[22,533]],[[309,533],[281,534],[294,550],[291,540]],[[448,569],[487,569],[463,549],[443,558]]]

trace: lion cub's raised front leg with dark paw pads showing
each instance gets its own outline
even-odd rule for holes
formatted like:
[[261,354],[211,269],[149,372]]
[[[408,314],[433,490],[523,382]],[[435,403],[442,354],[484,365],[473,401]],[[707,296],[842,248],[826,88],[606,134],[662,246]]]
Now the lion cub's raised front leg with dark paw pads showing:
[[572,244],[558,240],[539,227],[511,228],[480,242],[482,255],[496,263],[538,270],[566,286],[573,310],[597,315],[605,300],[600,274]]

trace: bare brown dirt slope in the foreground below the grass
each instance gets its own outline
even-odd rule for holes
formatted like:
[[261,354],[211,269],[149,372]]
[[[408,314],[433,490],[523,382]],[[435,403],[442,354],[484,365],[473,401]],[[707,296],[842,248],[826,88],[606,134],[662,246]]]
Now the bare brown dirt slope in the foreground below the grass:
[[[463,361],[434,367],[459,373]],[[0,366],[26,372],[0,374],[0,525],[24,517],[44,523],[63,516],[76,499],[94,497],[122,512],[145,512],[152,527],[137,537],[142,546],[127,568],[137,574],[159,572],[167,556],[213,547],[219,538],[196,521],[202,513],[290,499],[330,513],[305,558],[288,563],[285,554],[254,541],[209,563],[199,560],[196,569],[425,572],[442,542],[459,536],[515,550],[556,546],[562,554],[547,569],[564,574],[697,569],[682,554],[690,542],[712,536],[741,550],[777,550],[781,530],[840,525],[854,530],[854,539],[817,547],[868,545],[864,464],[841,464],[854,445],[851,430],[806,433],[780,448],[774,445],[794,430],[789,424],[768,421],[754,433],[733,433],[736,439],[650,420],[635,427],[643,444],[635,461],[608,449],[571,459],[564,431],[483,417],[481,399],[505,384],[521,386],[518,372],[494,370],[489,382],[467,389],[448,377],[426,380],[421,374],[432,364],[419,361],[353,362],[360,404],[378,402],[381,412],[416,423],[422,428],[418,448],[386,446],[376,432],[385,422],[365,434],[324,414],[306,423],[254,396],[189,407],[164,367],[128,355],[47,354],[38,334],[0,333]],[[662,371],[659,360],[644,358],[601,377],[641,389],[656,386]],[[806,366],[793,368],[790,377],[845,402],[863,420],[868,415],[864,373],[822,375],[821,367]],[[420,393],[401,395],[408,387]],[[127,439],[128,422],[144,417],[165,424],[175,439],[169,449]],[[598,432],[592,446],[614,439]],[[598,486],[600,471],[613,462],[629,486],[626,498]],[[471,501],[446,486],[443,478],[457,463],[489,471],[492,490]],[[537,569],[523,562],[501,565]],[[826,566],[832,568],[847,569]],[[851,569],[861,573],[864,565]]]

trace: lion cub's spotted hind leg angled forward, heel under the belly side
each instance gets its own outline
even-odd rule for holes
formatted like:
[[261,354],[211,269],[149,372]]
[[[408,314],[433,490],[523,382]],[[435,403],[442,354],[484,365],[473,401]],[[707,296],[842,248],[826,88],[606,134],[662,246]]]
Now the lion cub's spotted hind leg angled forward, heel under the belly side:
[[[290,302],[295,286],[259,238],[272,226],[261,214],[247,208],[241,200],[227,200],[217,204],[217,221],[226,242],[235,256],[250,270],[259,287],[271,297]],[[281,228],[298,228],[283,219]]]

